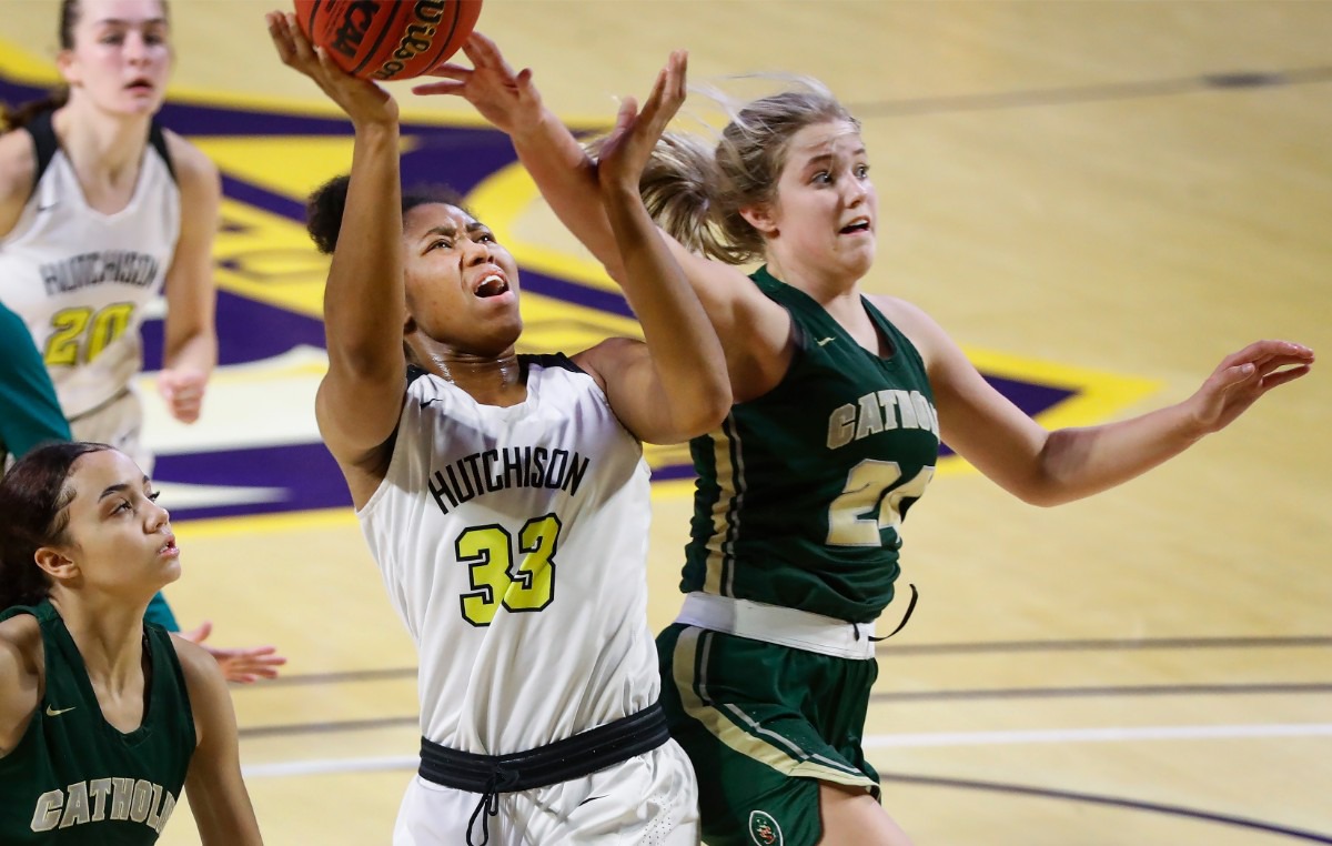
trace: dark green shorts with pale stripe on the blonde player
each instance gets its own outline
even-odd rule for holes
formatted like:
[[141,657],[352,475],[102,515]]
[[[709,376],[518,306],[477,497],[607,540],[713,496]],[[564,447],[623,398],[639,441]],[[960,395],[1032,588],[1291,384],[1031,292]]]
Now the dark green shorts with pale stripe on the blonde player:
[[819,782],[879,798],[860,749],[876,661],[681,624],[661,633],[657,653],[661,702],[694,762],[709,846],[815,846]]

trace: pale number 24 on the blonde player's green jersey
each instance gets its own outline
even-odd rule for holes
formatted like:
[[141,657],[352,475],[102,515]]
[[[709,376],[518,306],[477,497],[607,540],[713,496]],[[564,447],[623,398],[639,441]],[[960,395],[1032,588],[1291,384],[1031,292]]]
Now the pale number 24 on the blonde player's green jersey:
[[830,546],[879,546],[879,532],[902,525],[902,501],[924,494],[934,468],[920,468],[910,481],[894,489],[902,478],[896,461],[866,458],[846,474],[846,488],[829,506]]

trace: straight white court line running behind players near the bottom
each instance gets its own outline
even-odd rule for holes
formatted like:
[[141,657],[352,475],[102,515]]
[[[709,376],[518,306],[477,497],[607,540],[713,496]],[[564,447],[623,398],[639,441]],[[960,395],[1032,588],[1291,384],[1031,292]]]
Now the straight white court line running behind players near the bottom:
[[[1128,741],[1197,741],[1243,739],[1263,737],[1332,737],[1332,723],[1239,726],[1136,726],[1112,729],[1048,729],[1039,731],[934,731],[918,734],[871,734],[864,749],[906,749],[924,746],[994,746],[1019,743],[1106,743]],[[381,770],[414,770],[416,755],[382,758],[330,758],[322,761],[278,761],[242,767],[245,778],[284,775],[318,775],[330,773],[369,773]]]

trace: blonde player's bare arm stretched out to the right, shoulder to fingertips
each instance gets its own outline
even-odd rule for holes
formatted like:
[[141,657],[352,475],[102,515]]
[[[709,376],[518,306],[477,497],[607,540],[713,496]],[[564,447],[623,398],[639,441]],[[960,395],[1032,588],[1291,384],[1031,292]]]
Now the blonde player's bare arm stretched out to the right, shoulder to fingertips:
[[1047,432],[991,386],[930,317],[875,297],[926,356],[943,440],[1004,490],[1059,505],[1120,485],[1219,432],[1268,390],[1309,372],[1313,350],[1257,341],[1227,356],[1189,398],[1139,417]]

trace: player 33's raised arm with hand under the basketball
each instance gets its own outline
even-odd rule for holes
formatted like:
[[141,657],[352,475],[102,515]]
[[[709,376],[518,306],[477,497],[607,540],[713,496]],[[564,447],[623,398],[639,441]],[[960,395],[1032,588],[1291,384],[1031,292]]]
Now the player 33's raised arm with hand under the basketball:
[[282,63],[309,76],[352,119],[356,140],[341,232],[324,289],[329,370],[314,413],[357,508],[384,477],[405,394],[402,188],[398,107],[306,40],[290,13],[268,15]]

